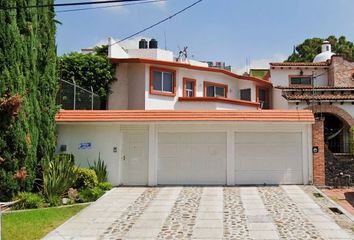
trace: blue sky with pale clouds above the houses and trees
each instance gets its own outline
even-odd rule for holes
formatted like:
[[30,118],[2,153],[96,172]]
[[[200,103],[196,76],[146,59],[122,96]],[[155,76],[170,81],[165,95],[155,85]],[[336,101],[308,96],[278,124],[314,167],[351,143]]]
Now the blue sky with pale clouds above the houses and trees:
[[[88,0],[57,0],[56,3]],[[96,0],[97,1],[97,0]],[[167,0],[76,12],[58,12],[57,49],[62,55],[93,47],[108,37],[123,39],[192,4]],[[103,6],[103,5],[101,5]],[[83,8],[76,6],[71,8]],[[354,41],[353,0],[203,0],[201,3],[137,37],[122,42],[137,45],[155,38],[159,48],[178,54],[188,46],[196,60],[223,61],[239,72],[266,68],[283,61],[306,38],[344,35]]]

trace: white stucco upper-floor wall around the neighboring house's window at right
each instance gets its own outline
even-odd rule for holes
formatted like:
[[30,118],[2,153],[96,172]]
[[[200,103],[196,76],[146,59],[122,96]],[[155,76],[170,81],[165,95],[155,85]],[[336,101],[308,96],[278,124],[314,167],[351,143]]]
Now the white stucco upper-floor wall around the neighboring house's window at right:
[[314,81],[315,86],[327,86],[328,85],[328,70],[327,69],[288,69],[284,67],[283,69],[270,69],[271,82],[273,86],[289,86],[290,79],[289,75],[300,75],[300,71],[303,71],[303,75],[317,76]]

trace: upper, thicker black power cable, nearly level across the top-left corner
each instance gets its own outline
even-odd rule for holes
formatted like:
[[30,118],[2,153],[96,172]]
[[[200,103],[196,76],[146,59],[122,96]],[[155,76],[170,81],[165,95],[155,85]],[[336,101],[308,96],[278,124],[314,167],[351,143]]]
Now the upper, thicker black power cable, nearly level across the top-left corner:
[[42,5],[29,5],[29,6],[16,6],[16,7],[4,7],[0,6],[0,10],[13,10],[18,8],[44,8],[44,7],[69,7],[80,5],[96,5],[107,3],[119,3],[119,2],[140,2],[143,0],[105,0],[105,1],[90,1],[90,2],[72,2],[72,3],[54,3],[54,4],[42,4]]

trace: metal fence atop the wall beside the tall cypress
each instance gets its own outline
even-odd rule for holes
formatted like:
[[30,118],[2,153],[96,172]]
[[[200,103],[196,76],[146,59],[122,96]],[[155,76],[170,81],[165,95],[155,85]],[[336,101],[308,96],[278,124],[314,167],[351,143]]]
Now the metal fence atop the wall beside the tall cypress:
[[101,108],[100,96],[72,82],[60,79],[57,104],[66,110],[97,110]]

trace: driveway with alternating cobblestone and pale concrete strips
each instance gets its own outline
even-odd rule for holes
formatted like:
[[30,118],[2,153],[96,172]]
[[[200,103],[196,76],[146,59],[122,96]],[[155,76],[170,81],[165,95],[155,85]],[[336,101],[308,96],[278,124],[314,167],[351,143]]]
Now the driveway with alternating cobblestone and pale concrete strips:
[[115,188],[45,239],[354,239],[302,186]]

